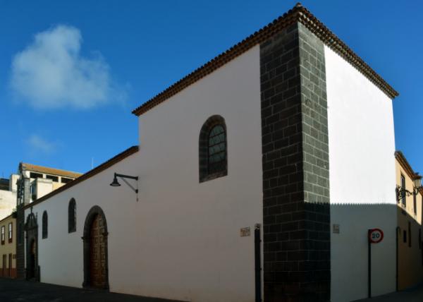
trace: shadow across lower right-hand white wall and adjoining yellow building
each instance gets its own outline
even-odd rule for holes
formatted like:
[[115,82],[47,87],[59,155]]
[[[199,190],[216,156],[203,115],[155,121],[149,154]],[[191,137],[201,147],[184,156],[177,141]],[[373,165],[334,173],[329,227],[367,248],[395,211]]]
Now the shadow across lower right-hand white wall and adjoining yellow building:
[[[412,244],[407,246],[407,250],[405,245],[408,243],[403,243],[402,234],[404,225],[408,227],[408,221]],[[396,204],[331,204],[332,301],[367,298],[368,229],[377,228],[384,232],[384,239],[371,245],[372,296],[401,289],[400,284],[422,282],[421,227],[416,219],[404,214]],[[407,242],[410,239],[407,237]]]

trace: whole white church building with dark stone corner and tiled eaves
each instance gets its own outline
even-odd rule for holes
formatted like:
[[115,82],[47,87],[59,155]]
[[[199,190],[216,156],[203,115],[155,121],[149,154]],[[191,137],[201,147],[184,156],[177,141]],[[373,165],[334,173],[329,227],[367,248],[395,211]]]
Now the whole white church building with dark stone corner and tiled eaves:
[[23,205],[27,279],[199,302],[396,291],[397,95],[298,4],[135,109],[139,145]]

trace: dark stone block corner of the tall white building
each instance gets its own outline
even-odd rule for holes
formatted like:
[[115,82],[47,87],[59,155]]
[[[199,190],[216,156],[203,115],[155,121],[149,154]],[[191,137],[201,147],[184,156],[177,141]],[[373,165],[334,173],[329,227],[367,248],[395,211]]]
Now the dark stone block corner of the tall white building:
[[264,301],[330,301],[324,44],[295,22],[260,44]]

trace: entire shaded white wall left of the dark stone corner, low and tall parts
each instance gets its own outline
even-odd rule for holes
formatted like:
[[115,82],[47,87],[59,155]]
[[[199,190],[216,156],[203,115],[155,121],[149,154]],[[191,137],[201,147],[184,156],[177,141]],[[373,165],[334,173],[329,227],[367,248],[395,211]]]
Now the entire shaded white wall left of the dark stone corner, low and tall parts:
[[[240,237],[240,228],[262,224],[259,85],[257,46],[140,116],[135,155],[35,205],[41,281],[81,286],[83,224],[99,205],[109,229],[111,291],[254,301],[254,236]],[[228,176],[199,183],[200,129],[214,114],[226,120]],[[140,176],[139,201],[122,181],[109,186],[115,171]],[[68,234],[71,198],[78,222]],[[44,209],[47,239],[41,239]]]

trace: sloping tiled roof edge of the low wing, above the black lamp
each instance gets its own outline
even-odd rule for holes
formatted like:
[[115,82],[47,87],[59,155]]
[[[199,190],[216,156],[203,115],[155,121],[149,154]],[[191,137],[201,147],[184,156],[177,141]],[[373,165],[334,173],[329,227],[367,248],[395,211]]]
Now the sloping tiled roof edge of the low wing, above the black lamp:
[[24,209],[27,209],[29,207],[32,207],[32,206],[37,205],[39,203],[42,203],[42,201],[47,200],[47,199],[51,198],[52,196],[59,194],[59,193],[65,191],[65,190],[67,190],[68,188],[71,188],[71,187],[77,185],[78,183],[85,181],[86,179],[90,179],[92,176],[99,174],[100,172],[102,172],[105,169],[113,166],[117,162],[121,162],[122,159],[125,159],[126,157],[133,155],[137,151],[138,151],[138,146],[135,145],[135,146],[129,147],[125,151],[123,151],[123,152],[119,153],[118,155],[112,157],[111,159],[109,159],[106,162],[100,164],[99,166],[95,167],[94,169],[87,171],[87,173],[85,173],[85,174],[82,174],[82,176],[78,177],[78,179],[74,179],[73,181],[66,183],[66,185],[61,186],[60,188],[57,188],[54,191],[51,191],[47,195],[44,195],[42,198],[38,198],[33,203],[25,205]]

